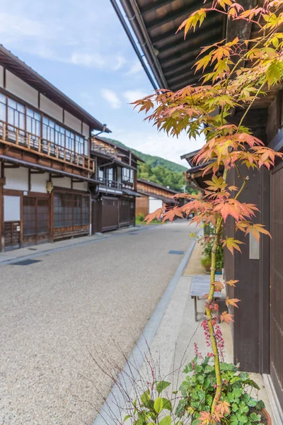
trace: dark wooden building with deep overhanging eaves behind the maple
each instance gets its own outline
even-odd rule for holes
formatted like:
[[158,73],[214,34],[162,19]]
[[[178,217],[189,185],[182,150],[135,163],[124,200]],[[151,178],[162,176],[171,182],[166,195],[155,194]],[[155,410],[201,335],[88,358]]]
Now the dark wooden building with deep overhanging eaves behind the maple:
[[[111,0],[117,11],[117,2]],[[139,45],[149,63],[155,88],[178,90],[188,84],[198,84],[201,70],[195,72],[192,64],[202,46],[238,36],[240,40],[250,40],[256,35],[256,28],[248,21],[228,21],[221,13],[210,13],[200,29],[190,33],[183,40],[183,33],[175,34],[178,26],[187,16],[200,7],[195,0],[120,0],[128,21],[119,11],[117,14],[129,38],[132,27]],[[256,0],[242,0],[244,8],[257,6]],[[260,6],[260,4],[259,4]],[[209,40],[207,41],[207,35]],[[144,67],[142,55],[139,54]],[[209,69],[207,70],[209,72]],[[278,86],[264,98],[258,99],[246,115],[243,125],[259,137],[265,145],[283,151],[283,104],[282,90]],[[239,123],[245,111],[236,108],[231,123]],[[202,187],[200,168],[188,171],[190,178]],[[245,170],[245,175],[247,171]],[[262,237],[260,245],[255,244],[249,235],[243,238],[243,255],[234,256],[226,251],[224,268],[227,279],[240,281],[233,294],[241,300],[241,308],[235,309],[233,324],[233,355],[235,363],[241,363],[243,370],[265,374],[270,395],[275,395],[279,415],[278,423],[283,423],[283,162],[268,172],[248,171],[248,185],[241,194],[241,200],[259,205],[260,212],[255,217],[270,229],[272,240]],[[237,183],[233,172],[229,173],[229,183]],[[231,229],[233,228],[231,222]],[[231,235],[233,234],[231,230]],[[242,236],[237,234],[237,239]],[[281,407],[280,407],[281,406]]]

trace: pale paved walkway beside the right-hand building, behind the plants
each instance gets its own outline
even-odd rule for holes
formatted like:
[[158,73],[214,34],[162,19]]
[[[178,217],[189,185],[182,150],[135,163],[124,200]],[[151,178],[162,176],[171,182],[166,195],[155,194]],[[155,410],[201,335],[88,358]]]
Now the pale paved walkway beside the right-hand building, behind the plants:
[[[131,368],[134,372],[130,372],[130,375],[137,375],[137,385],[134,385],[135,390],[130,392],[130,394],[132,394],[132,399],[136,398],[137,395],[141,395],[141,393],[147,389],[146,382],[152,382],[152,370],[154,370],[156,374],[156,380],[169,381],[171,382],[171,387],[169,388],[171,388],[171,390],[178,390],[184,378],[184,366],[195,357],[194,342],[197,344],[199,351],[204,355],[209,351],[204,339],[202,327],[200,326],[201,320],[195,322],[194,305],[190,297],[192,276],[196,273],[204,273],[202,266],[200,266],[201,254],[202,249],[200,244],[195,244],[195,249],[190,255],[190,261],[188,261],[187,266],[184,268],[183,275],[178,278],[178,282],[175,284],[175,290],[171,295],[170,302],[163,312],[163,317],[156,329],[154,339],[151,341],[151,344],[149,344],[149,347],[144,344],[142,338],[141,341],[139,341],[144,362],[139,360],[140,353],[137,349],[130,358],[132,364],[141,364],[138,368],[138,373],[135,372],[134,368]],[[204,300],[198,301],[198,311],[204,311]],[[223,323],[219,324],[219,326],[221,327],[225,341],[224,361],[233,363],[231,328]],[[151,363],[151,367],[149,367],[149,363]],[[129,372],[127,371],[127,373]],[[272,414],[272,400],[270,401],[268,397],[269,394],[265,388],[265,382],[262,379],[262,375],[251,373],[250,376],[255,382],[258,382],[261,388],[259,392],[253,391],[254,397],[263,399],[265,407],[272,417],[272,424],[282,425],[281,421],[275,421]],[[119,380],[119,385],[124,386],[124,371],[120,374]],[[133,382],[132,378],[130,382]],[[128,392],[129,388],[130,385],[128,385]],[[168,393],[169,397],[172,397],[171,390],[169,390]],[[108,396],[103,410],[100,412],[100,415],[97,416],[94,425],[104,425],[105,420],[108,422],[108,425],[115,425],[117,424],[117,421],[113,419],[115,416],[119,419],[125,417],[125,413],[123,412],[120,416],[121,409],[115,407],[115,400],[118,400],[120,406],[124,406],[124,409],[125,406],[127,406],[123,397],[119,399],[117,396],[119,394],[120,391],[116,386],[113,390],[113,395],[110,394]]]

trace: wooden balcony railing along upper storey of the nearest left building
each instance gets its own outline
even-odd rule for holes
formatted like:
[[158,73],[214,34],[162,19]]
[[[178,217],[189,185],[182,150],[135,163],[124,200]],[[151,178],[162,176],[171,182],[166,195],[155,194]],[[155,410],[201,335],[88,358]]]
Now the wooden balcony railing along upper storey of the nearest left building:
[[21,130],[14,125],[0,120],[0,142],[5,145],[16,146],[29,152],[37,152],[42,157],[56,159],[59,162],[91,171],[95,171],[95,161],[85,154],[79,154],[66,147],[55,145],[53,142],[43,139],[30,132]]

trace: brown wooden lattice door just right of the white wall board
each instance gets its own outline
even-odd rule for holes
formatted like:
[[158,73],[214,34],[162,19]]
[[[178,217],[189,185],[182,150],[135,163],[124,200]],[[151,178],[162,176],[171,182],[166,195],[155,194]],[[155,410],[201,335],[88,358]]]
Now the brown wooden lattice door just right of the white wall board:
[[50,202],[48,198],[23,198],[23,246],[48,242]]

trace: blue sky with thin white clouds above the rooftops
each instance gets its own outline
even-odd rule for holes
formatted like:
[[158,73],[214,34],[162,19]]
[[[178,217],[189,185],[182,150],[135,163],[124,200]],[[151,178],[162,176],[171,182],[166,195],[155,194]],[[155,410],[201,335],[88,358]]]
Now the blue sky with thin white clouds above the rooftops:
[[129,147],[186,165],[180,155],[202,145],[132,110],[153,89],[109,0],[2,0],[0,40]]

